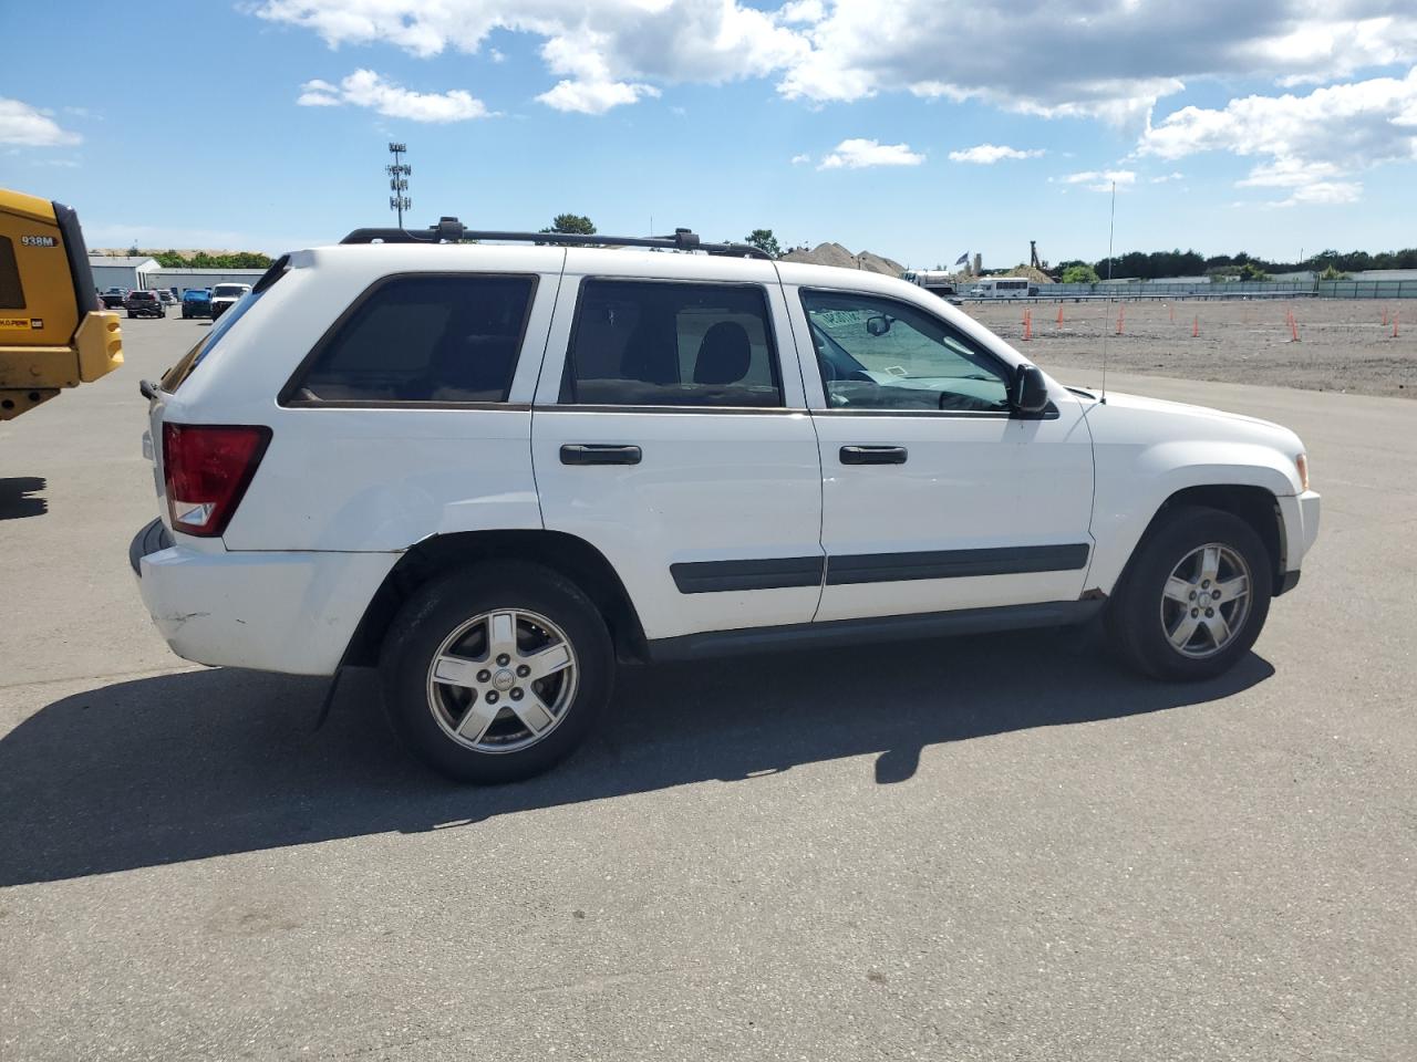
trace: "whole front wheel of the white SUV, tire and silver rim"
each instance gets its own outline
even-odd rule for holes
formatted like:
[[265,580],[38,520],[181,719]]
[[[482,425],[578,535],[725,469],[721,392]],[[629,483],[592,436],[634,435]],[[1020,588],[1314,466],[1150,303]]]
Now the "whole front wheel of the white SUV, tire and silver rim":
[[1254,528],[1230,513],[1182,507],[1138,548],[1107,626],[1139,671],[1199,681],[1250,651],[1271,593],[1270,554]]

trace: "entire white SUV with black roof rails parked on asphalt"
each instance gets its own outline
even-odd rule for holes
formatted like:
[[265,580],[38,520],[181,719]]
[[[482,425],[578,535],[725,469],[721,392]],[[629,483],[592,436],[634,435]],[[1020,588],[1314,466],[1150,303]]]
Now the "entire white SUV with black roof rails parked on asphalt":
[[616,661],[1101,612],[1141,670],[1216,675],[1318,531],[1292,432],[1061,387],[904,280],[487,238],[281,259],[145,381],[130,551],[179,656],[377,664],[455,777],[565,756]]

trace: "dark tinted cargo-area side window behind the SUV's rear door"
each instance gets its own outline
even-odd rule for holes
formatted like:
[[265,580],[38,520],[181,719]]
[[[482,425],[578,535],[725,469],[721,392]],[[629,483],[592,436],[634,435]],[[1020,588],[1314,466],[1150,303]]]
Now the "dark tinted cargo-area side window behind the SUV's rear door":
[[533,276],[384,280],[320,341],[292,381],[300,402],[504,402]]

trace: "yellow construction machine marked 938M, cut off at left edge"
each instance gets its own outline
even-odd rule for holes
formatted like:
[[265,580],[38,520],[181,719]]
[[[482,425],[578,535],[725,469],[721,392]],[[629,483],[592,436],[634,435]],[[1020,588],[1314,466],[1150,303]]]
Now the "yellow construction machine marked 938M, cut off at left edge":
[[78,215],[0,188],[0,421],[122,364],[118,313],[99,306]]

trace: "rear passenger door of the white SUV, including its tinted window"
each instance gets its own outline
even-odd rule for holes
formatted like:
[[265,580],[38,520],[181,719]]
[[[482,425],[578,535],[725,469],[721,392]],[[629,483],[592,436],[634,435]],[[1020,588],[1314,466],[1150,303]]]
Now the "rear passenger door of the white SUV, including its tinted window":
[[822,470],[771,262],[568,252],[531,452],[546,528],[650,639],[811,622]]

